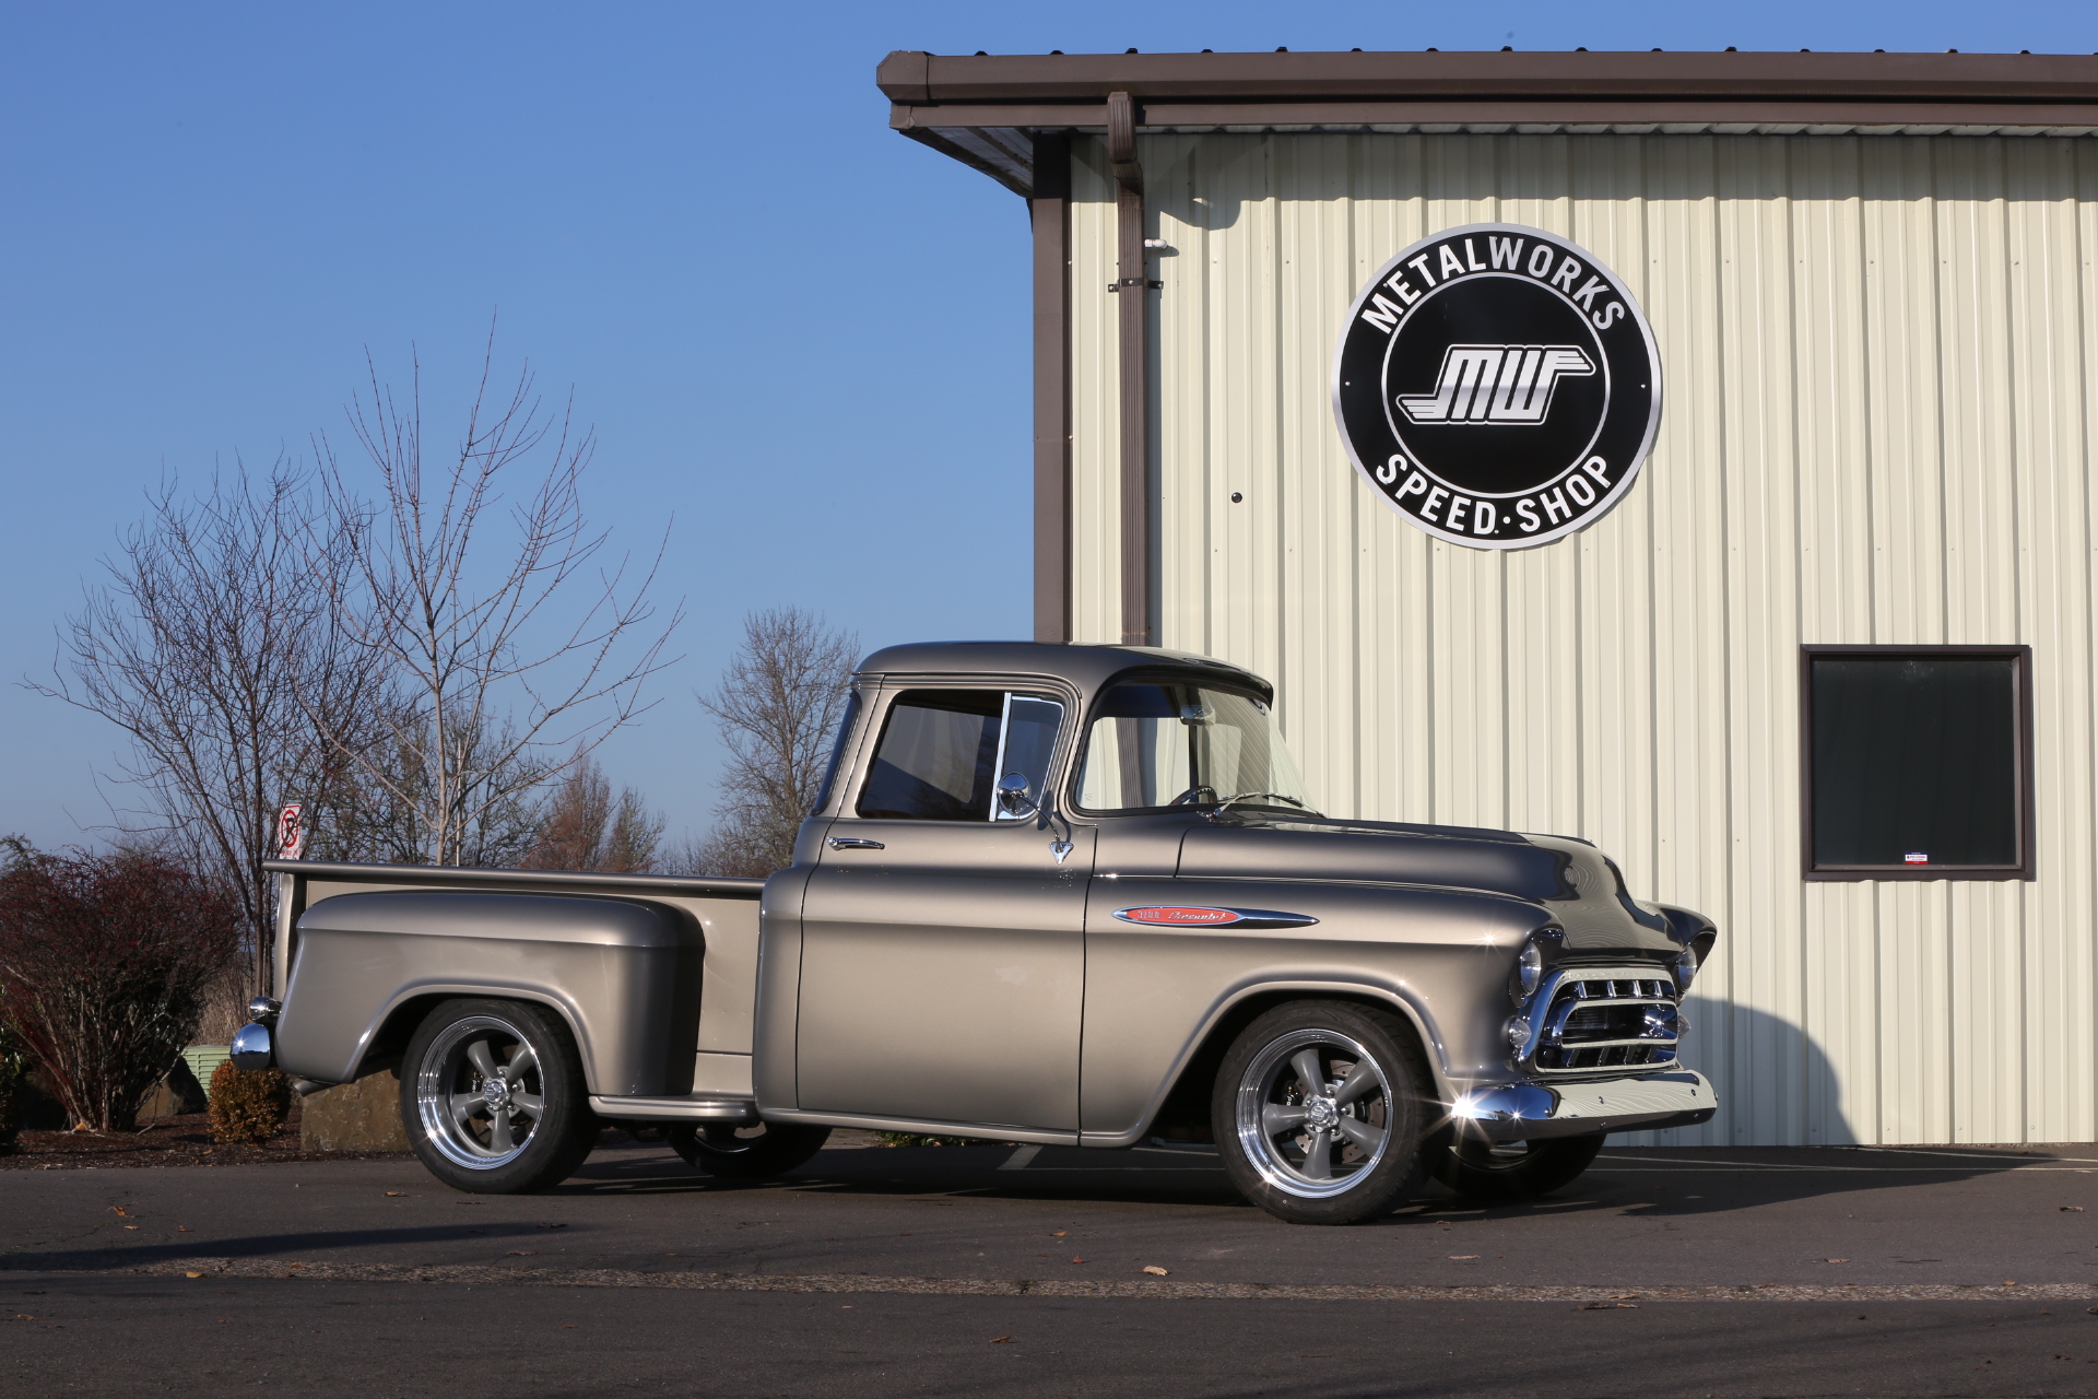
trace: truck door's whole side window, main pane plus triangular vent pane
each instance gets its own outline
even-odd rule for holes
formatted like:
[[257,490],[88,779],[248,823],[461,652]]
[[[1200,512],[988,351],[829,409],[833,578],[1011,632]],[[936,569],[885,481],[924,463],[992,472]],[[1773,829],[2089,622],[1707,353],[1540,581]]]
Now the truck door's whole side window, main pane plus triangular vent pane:
[[1005,690],[904,690],[890,705],[854,808],[883,820],[1001,820],[1007,772],[1039,801],[1064,705]]

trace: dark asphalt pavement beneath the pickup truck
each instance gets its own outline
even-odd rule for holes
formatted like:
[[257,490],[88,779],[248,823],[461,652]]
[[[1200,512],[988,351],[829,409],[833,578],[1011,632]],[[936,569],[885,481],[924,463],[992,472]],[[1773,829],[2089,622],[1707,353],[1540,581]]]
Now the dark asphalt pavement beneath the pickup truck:
[[[0,1175],[0,1391],[2088,1395],[2098,1149],[1609,1149],[1513,1208],[1282,1225],[1215,1158],[650,1145]],[[13,1319],[8,1319],[13,1317]]]

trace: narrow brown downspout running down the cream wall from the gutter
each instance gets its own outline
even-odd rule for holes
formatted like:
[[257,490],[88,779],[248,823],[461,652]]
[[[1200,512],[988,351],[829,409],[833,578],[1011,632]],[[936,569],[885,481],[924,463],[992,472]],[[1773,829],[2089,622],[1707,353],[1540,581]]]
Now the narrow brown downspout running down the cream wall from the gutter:
[[1152,279],[1143,250],[1143,168],[1129,92],[1108,94],[1108,164],[1116,185],[1122,417],[1122,644],[1154,646],[1152,625]]

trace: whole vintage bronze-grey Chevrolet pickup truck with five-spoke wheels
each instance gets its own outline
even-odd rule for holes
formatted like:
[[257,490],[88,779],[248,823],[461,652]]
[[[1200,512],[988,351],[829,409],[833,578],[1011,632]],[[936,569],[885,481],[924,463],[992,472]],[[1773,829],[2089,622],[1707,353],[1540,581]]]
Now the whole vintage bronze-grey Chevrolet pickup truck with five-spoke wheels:
[[543,1189],[604,1122],[722,1175],[858,1126],[1213,1143],[1276,1217],[1355,1223],[1716,1110],[1676,1059],[1710,921],[1580,839],[1322,816],[1271,686],[1196,654],[871,654],[764,881],[271,868],[281,1005],[235,1061],[399,1066],[466,1191]]

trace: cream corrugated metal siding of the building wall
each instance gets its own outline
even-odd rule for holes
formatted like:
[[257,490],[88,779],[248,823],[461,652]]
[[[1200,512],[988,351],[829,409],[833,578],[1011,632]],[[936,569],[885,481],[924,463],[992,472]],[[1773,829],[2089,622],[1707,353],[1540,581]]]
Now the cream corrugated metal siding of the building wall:
[[[1714,914],[1706,1143],[2090,1141],[2098,143],[1146,136],[1166,646],[1282,686],[1328,810],[1594,839]],[[1076,640],[1116,619],[1114,203],[1076,143]],[[1527,222],[1666,367],[1605,520],[1487,554],[1347,466],[1334,338],[1385,258]],[[1244,493],[1234,505],[1232,493]],[[1798,646],[2027,642],[2039,879],[1798,875]]]

